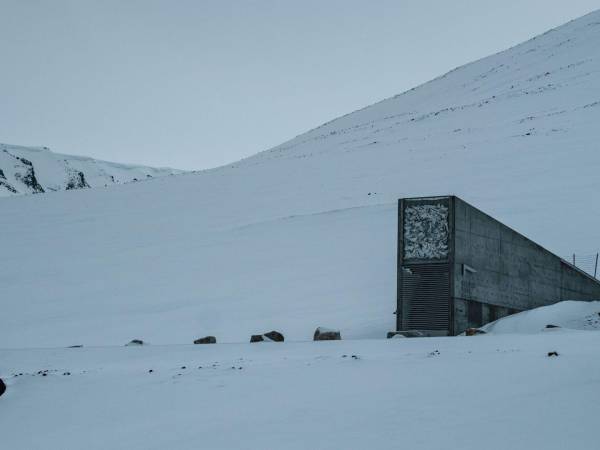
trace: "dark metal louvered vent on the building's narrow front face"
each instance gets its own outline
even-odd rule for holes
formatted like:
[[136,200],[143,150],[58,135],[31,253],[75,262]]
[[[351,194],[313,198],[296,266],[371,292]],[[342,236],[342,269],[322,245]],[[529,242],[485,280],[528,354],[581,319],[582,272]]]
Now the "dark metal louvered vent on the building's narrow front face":
[[404,327],[450,331],[450,265],[402,266]]

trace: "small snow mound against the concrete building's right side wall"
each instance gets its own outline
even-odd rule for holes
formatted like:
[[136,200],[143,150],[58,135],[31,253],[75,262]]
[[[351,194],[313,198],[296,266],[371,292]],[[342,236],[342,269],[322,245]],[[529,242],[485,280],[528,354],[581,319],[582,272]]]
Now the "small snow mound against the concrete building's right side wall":
[[557,331],[555,325],[573,330],[600,330],[600,301],[563,301],[530,311],[523,311],[482,327],[487,333],[539,333]]

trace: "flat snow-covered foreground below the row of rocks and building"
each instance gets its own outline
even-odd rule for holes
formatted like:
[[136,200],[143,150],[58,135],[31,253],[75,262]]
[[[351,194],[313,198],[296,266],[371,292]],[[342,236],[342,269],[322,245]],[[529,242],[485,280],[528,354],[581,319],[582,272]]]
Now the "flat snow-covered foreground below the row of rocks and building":
[[593,450],[599,348],[561,331],[0,350],[0,447]]

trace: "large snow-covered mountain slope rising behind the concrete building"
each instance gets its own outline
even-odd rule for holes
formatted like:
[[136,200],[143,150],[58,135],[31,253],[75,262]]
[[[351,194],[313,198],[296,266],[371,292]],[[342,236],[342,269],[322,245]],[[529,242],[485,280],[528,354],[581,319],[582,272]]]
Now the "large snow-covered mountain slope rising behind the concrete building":
[[595,252],[598,48],[595,12],[227,167],[2,199],[0,346],[380,337],[405,196]]

